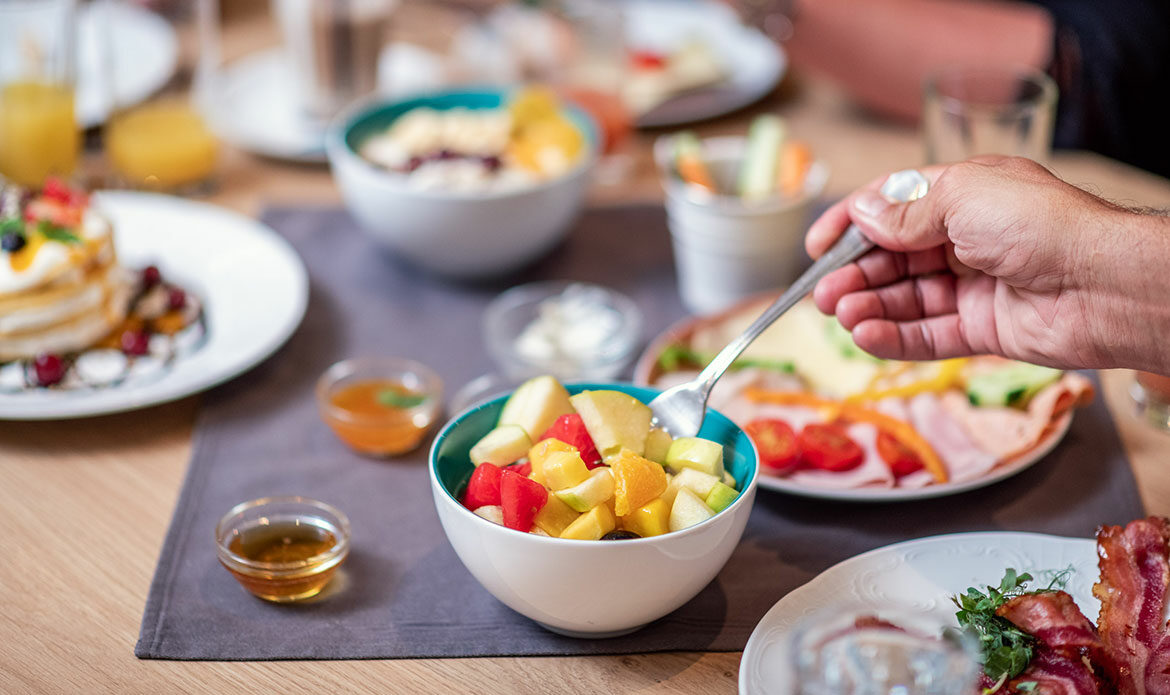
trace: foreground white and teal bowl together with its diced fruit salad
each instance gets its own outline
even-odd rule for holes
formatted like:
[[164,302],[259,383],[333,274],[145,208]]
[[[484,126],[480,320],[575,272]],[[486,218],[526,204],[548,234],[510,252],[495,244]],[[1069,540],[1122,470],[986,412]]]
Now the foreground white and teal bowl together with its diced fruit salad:
[[716,412],[697,438],[654,429],[654,395],[537,377],[443,428],[435,508],[493,596],[555,632],[612,636],[718,573],[751,511],[756,450]]

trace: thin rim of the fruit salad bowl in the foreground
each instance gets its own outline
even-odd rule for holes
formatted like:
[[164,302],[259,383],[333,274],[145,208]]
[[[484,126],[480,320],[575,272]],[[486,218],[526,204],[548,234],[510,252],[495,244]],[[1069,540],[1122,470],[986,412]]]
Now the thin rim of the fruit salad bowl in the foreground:
[[[608,383],[604,383],[604,381],[567,381],[564,385],[565,385],[565,387],[571,387],[571,386],[620,385],[620,386],[636,386],[638,388],[648,388],[651,391],[658,391],[653,386],[639,386],[638,384],[631,384],[631,383],[625,383],[625,381],[608,381]],[[621,546],[624,548],[626,544],[631,544],[631,545],[633,545],[633,544],[644,544],[645,545],[645,544],[655,543],[655,542],[658,542],[658,543],[668,543],[669,538],[683,538],[686,536],[690,536],[693,534],[698,532],[703,527],[713,523],[716,518],[718,518],[718,517],[721,517],[723,515],[728,515],[728,517],[734,516],[730,512],[745,503],[744,500],[749,496],[749,493],[751,493],[751,496],[755,497],[755,491],[756,491],[756,488],[757,488],[757,482],[759,481],[759,452],[756,450],[756,442],[751,441],[751,438],[748,436],[748,433],[744,433],[744,439],[751,446],[752,461],[755,462],[755,472],[752,473],[751,482],[748,483],[746,488],[739,490],[739,495],[735,498],[735,502],[732,502],[730,505],[728,505],[727,509],[724,509],[723,511],[716,512],[715,516],[711,516],[710,518],[703,519],[703,521],[698,522],[697,524],[695,524],[693,527],[687,527],[686,529],[682,529],[680,531],[667,531],[666,534],[661,534],[659,536],[646,536],[646,537],[642,537],[642,538],[624,538],[621,541],[603,542],[603,541],[580,541],[580,539],[577,539],[577,538],[555,538],[552,536],[539,536],[537,534],[525,532],[525,531],[517,531],[516,529],[509,529],[508,527],[505,527],[503,524],[497,524],[495,522],[490,522],[490,521],[483,518],[482,516],[475,514],[470,509],[463,507],[459,502],[459,500],[455,498],[455,496],[450,493],[450,490],[448,490],[447,487],[442,484],[442,482],[439,480],[439,476],[435,474],[434,462],[435,462],[435,456],[439,455],[439,445],[447,438],[447,434],[450,432],[450,429],[453,429],[455,426],[457,426],[467,415],[472,414],[473,412],[482,410],[482,408],[486,408],[486,407],[489,407],[489,406],[493,406],[496,402],[498,402],[498,401],[501,401],[501,400],[503,400],[503,399],[505,399],[505,398],[508,398],[510,395],[511,395],[511,393],[505,393],[503,395],[493,398],[491,400],[487,400],[487,401],[483,401],[481,404],[473,405],[473,406],[470,406],[468,408],[464,408],[461,413],[456,414],[455,417],[453,417],[450,420],[447,421],[446,425],[442,426],[442,428],[435,435],[434,441],[431,443],[431,450],[427,454],[427,475],[431,477],[431,487],[432,487],[432,489],[433,490],[434,489],[441,490],[442,495],[440,495],[440,497],[442,497],[443,502],[447,503],[447,504],[454,505],[462,514],[472,517],[474,519],[473,523],[477,523],[477,524],[481,524],[481,525],[486,524],[484,528],[490,527],[493,529],[503,530],[503,531],[510,531],[512,534],[519,534],[521,536],[528,536],[529,538],[531,538],[534,542],[537,542],[537,543],[557,543],[557,544],[560,544],[563,546],[578,545],[578,546],[581,546],[581,548],[601,548],[601,549],[604,549],[604,548],[612,548],[612,545],[611,545],[612,543],[620,543]],[[728,422],[731,422],[731,425],[734,425],[737,429],[739,429],[741,432],[743,431],[743,428],[739,427],[738,425],[736,425],[735,421],[732,421],[727,415],[723,415],[723,413],[720,413],[715,408],[708,408],[708,411],[713,412],[713,413],[718,413],[720,415],[722,415],[723,418],[725,418],[728,420]]]

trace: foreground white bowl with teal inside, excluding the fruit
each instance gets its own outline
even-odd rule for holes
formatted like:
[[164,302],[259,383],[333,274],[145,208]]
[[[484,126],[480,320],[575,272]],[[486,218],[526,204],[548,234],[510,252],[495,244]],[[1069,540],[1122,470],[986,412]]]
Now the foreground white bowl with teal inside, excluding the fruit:
[[[658,391],[629,384],[570,384],[570,393],[614,388],[648,402]],[[459,496],[472,475],[472,446],[496,425],[507,397],[464,411],[431,449],[431,490],[447,538],[494,597],[570,636],[633,632],[694,598],[720,572],[743,536],[756,497],[758,462],[738,426],[708,411],[700,436],[724,446],[739,482],[730,507],[689,529],[631,541],[567,541],[523,534],[472,514]]]

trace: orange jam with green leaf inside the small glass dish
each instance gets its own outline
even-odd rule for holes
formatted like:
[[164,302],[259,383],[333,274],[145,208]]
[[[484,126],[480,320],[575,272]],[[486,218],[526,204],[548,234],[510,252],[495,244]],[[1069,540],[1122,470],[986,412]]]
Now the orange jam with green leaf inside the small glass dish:
[[434,419],[429,400],[401,381],[369,379],[333,390],[322,417],[353,449],[390,456],[419,446]]

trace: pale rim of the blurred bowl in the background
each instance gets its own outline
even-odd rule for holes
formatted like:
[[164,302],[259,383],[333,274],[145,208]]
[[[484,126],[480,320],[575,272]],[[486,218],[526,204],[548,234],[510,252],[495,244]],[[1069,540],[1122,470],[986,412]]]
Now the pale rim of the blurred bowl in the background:
[[442,191],[442,190],[418,190],[411,188],[405,181],[405,177],[395,174],[394,172],[387,171],[376,164],[366,160],[359,153],[355,152],[353,149],[346,143],[346,133],[350,131],[350,126],[359,121],[362,117],[367,115],[374,109],[383,109],[400,102],[411,102],[426,98],[435,98],[442,95],[454,95],[464,92],[497,92],[500,95],[507,95],[515,91],[517,88],[501,88],[501,87],[484,87],[484,85],[461,85],[459,88],[441,89],[435,91],[426,91],[421,94],[413,94],[406,97],[388,98],[385,95],[372,95],[358,99],[343,109],[329,123],[329,128],[325,131],[325,154],[330,160],[330,165],[338,159],[344,159],[352,163],[356,170],[360,172],[363,177],[366,178],[371,184],[381,186],[388,191],[395,193],[401,193],[406,195],[417,195],[419,198],[431,198],[435,200],[505,200],[510,198],[519,198],[530,193],[538,193],[541,191],[552,188],[558,186],[570,179],[578,178],[586,172],[589,172],[593,165],[597,163],[600,156],[600,129],[598,128],[597,121],[580,106],[563,101],[562,109],[571,112],[576,118],[580,119],[589,126],[589,132],[585,132],[586,151],[580,157],[579,161],[564,172],[560,176],[538,181],[530,186],[521,186],[518,188],[508,188],[504,191]]

